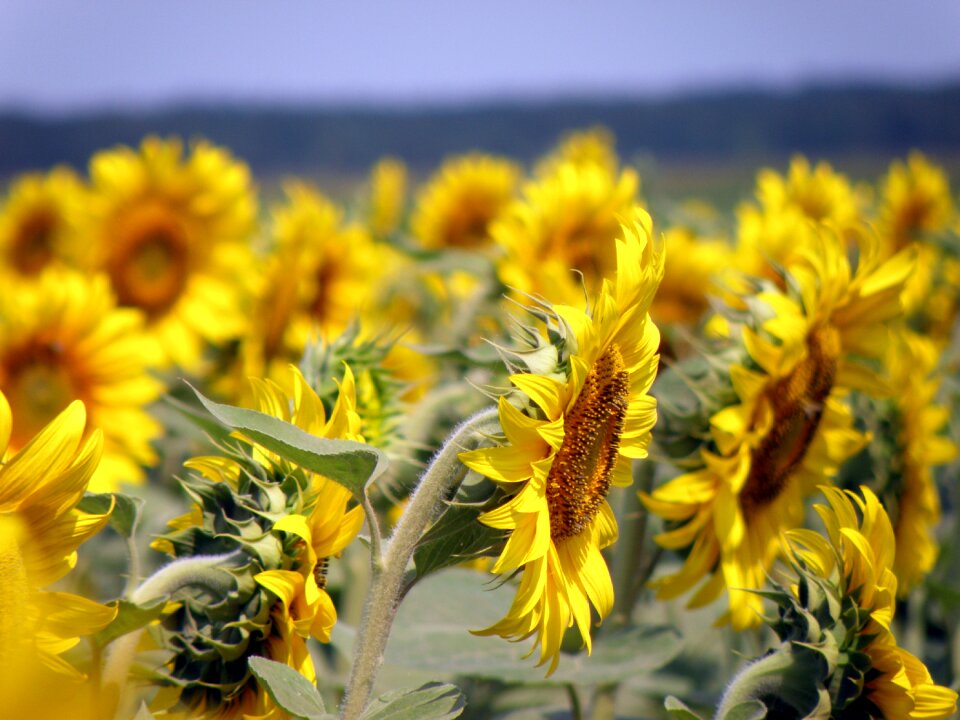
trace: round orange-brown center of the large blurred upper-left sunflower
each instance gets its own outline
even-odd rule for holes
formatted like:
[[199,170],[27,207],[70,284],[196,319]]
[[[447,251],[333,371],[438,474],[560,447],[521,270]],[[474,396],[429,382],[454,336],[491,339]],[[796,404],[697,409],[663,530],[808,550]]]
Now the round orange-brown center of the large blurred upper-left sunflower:
[[153,317],[163,314],[183,293],[189,259],[189,243],[180,223],[165,208],[148,207],[120,228],[107,272],[121,305],[138,307]]

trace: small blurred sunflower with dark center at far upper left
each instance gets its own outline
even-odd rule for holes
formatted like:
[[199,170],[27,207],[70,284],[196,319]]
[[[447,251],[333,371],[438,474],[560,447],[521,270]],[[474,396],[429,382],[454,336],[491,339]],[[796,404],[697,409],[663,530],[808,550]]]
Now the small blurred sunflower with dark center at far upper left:
[[83,198],[83,184],[69,168],[16,178],[0,207],[0,270],[34,276],[74,261],[73,225]]

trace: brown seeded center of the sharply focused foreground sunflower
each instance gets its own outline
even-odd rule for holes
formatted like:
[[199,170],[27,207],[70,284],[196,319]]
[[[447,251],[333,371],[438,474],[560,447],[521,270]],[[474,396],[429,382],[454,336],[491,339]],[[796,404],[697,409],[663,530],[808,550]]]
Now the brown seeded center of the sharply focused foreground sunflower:
[[630,376],[616,344],[597,358],[563,421],[563,443],[547,475],[550,536],[583,532],[610,490],[627,415]]

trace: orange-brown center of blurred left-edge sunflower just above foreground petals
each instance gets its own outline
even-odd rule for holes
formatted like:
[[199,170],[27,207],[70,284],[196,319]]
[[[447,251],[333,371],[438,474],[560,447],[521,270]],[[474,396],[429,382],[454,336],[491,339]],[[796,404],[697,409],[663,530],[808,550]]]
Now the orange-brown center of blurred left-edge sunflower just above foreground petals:
[[7,355],[0,365],[3,392],[15,408],[11,442],[21,448],[78,396],[56,343],[33,342]]

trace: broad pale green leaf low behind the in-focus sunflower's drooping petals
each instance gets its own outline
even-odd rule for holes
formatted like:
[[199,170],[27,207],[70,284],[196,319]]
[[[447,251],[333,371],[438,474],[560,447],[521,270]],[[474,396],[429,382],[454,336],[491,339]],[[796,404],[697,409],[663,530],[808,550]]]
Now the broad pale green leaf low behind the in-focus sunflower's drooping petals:
[[418,583],[400,606],[386,650],[386,662],[409,669],[470,675],[507,683],[542,685],[605,684],[642,676],[672,660],[681,650],[671,627],[640,626],[598,635],[593,656],[566,654],[545,678],[522,656],[532,640],[510,643],[478,637],[471,629],[487,627],[510,607],[515,588],[496,587],[491,576],[453,568]]

